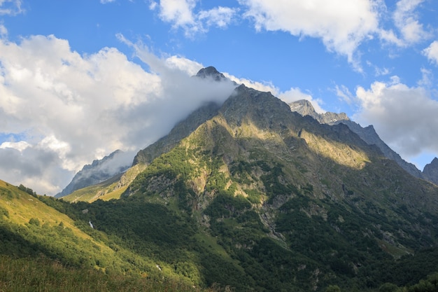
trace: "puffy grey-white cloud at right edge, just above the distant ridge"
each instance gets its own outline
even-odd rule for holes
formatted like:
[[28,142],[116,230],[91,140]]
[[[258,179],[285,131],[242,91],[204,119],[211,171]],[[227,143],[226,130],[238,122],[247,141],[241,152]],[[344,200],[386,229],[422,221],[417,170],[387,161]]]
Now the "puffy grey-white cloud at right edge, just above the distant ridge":
[[402,157],[438,152],[438,102],[425,88],[409,87],[394,76],[386,83],[372,83],[369,89],[358,87],[356,96],[361,109],[353,119],[373,124]]

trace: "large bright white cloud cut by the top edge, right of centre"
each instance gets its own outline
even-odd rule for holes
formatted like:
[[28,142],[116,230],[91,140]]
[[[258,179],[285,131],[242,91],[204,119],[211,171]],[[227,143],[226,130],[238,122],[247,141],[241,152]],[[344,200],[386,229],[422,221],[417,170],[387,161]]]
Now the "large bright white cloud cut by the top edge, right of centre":
[[371,0],[240,0],[256,29],[281,30],[294,36],[322,39],[328,50],[355,62],[360,43],[379,27],[378,1]]

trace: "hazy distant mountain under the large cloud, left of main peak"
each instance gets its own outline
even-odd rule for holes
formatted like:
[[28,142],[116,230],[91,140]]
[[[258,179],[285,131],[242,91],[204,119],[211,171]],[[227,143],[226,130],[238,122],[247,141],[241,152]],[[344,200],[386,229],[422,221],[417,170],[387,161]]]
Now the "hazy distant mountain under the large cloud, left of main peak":
[[91,165],[85,165],[82,170],[77,172],[64,190],[57,193],[55,197],[64,197],[80,188],[111,179],[113,176],[125,172],[131,165],[131,162],[130,154],[120,150],[114,151],[101,160],[93,160]]

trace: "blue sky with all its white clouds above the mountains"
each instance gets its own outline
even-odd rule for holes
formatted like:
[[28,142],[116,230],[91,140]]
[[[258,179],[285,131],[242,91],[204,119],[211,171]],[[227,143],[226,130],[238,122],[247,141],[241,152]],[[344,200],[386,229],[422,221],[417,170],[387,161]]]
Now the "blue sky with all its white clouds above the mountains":
[[[0,0],[0,179],[55,194],[127,160],[238,83],[374,125],[419,169],[438,153],[433,0]],[[199,90],[199,88],[202,88]]]

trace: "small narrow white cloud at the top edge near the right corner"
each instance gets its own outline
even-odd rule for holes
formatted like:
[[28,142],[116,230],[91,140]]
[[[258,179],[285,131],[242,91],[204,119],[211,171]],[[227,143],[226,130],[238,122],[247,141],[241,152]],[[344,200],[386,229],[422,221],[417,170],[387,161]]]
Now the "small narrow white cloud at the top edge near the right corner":
[[[428,37],[423,25],[418,21],[415,10],[424,0],[400,0],[397,2],[393,19],[407,44],[417,43]],[[405,45],[406,45],[405,43]]]

